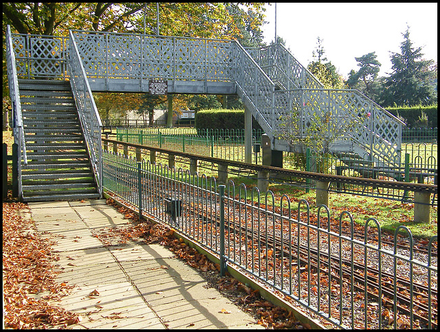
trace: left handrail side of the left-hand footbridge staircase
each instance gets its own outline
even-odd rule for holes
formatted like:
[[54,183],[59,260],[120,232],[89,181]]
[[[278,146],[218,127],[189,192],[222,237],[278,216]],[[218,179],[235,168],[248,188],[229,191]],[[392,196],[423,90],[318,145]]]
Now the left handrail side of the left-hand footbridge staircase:
[[10,25],[8,25],[5,36],[6,42],[6,66],[8,69],[8,85],[9,95],[12,105],[12,129],[14,134],[14,143],[19,147],[19,197],[23,195],[21,186],[21,160],[25,165],[28,164],[28,157],[26,156],[25,132],[23,129],[23,115],[21,114],[21,102],[19,92],[19,79],[17,76],[17,61],[15,59],[14,43],[12,42],[12,34]]

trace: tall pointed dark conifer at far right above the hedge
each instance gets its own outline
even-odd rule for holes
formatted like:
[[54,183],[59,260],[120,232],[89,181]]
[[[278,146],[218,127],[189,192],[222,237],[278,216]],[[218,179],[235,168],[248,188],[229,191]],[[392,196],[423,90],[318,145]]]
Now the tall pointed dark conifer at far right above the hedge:
[[414,48],[410,40],[409,27],[403,33],[401,53],[391,53],[393,63],[390,76],[384,81],[380,103],[384,106],[430,105],[437,103],[432,87],[434,61],[424,60],[421,48]]

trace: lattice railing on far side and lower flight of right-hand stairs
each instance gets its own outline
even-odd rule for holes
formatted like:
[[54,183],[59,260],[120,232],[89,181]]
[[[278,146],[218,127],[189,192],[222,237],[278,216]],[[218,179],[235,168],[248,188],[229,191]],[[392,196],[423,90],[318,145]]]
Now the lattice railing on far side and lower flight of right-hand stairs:
[[380,156],[380,161],[385,163],[399,156],[404,123],[393,114],[358,90],[324,90],[313,74],[279,43],[248,51],[282,89],[275,94],[272,120],[275,130],[283,117],[296,109],[300,111],[298,121],[304,124],[302,134],[311,116],[318,114],[328,118],[329,132],[331,128],[345,129],[336,141],[351,140],[371,156]]

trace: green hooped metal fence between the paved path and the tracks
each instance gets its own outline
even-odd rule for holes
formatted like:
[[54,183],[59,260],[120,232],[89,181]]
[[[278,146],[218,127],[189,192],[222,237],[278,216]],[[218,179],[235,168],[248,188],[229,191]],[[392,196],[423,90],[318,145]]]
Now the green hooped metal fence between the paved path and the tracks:
[[[423,253],[410,231],[386,242],[380,222],[310,213],[272,191],[104,152],[103,185],[141,216],[175,228],[221,262],[343,329],[436,328],[437,236]],[[401,236],[401,231],[404,231]],[[396,239],[405,238],[403,247]],[[419,247],[419,245],[417,246]]]

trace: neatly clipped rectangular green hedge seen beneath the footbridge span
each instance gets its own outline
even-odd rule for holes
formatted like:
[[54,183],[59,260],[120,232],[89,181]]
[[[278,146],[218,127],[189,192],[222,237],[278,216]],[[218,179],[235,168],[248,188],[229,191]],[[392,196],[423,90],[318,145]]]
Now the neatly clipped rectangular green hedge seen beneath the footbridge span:
[[[196,129],[244,129],[244,110],[200,110],[195,115]],[[252,117],[252,128],[261,129]]]

